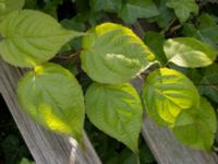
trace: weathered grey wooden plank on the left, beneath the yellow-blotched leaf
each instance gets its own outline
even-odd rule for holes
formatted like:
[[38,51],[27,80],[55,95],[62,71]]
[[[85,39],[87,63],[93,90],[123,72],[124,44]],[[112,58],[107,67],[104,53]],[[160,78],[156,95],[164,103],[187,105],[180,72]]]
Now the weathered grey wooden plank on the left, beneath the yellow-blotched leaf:
[[0,92],[37,164],[101,164],[85,134],[86,152],[69,137],[52,133],[33,122],[16,102],[22,71],[0,59]]

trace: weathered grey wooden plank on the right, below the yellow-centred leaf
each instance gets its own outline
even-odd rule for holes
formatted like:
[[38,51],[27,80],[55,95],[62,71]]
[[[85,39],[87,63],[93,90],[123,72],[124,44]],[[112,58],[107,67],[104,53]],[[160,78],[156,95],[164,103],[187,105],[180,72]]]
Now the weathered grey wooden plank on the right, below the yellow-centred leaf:
[[[132,80],[132,84],[138,93],[142,92],[142,79]],[[141,132],[158,164],[218,164],[215,152],[197,151],[181,144],[171,131],[158,127],[146,116]]]

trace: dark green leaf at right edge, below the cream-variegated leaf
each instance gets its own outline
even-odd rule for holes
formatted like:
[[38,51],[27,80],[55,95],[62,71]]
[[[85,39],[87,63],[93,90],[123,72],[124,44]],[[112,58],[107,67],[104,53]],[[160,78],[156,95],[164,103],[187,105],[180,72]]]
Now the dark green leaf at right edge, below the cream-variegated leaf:
[[202,95],[209,97],[218,104],[218,65],[211,65],[204,71],[204,77],[198,83],[198,90]]

